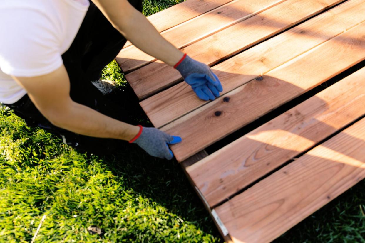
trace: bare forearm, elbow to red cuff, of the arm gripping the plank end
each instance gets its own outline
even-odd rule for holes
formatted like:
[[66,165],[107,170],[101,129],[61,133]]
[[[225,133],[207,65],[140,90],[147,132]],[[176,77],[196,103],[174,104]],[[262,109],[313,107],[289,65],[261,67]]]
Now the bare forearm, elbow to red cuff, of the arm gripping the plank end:
[[139,132],[138,126],[118,121],[76,102],[57,112],[61,114],[55,114],[50,119],[55,126],[90,137],[130,141]]

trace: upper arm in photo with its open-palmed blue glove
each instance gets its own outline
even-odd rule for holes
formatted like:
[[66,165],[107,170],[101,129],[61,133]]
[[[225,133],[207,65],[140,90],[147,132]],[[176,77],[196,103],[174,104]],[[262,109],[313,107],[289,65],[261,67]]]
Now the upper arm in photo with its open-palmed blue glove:
[[174,47],[127,0],[92,0],[125,38],[143,52],[176,68],[205,101],[219,97],[222,85],[210,67],[198,62]]

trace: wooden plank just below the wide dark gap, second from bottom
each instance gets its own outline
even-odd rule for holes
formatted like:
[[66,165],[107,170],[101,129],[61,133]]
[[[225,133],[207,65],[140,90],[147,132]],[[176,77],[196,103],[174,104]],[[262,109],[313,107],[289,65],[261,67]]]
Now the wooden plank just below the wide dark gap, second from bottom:
[[365,67],[189,166],[189,177],[214,207],[364,115],[359,87]]

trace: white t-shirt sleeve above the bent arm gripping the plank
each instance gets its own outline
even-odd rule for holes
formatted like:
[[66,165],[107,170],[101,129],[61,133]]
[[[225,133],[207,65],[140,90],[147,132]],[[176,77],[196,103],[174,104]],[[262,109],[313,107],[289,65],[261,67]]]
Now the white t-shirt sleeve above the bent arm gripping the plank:
[[35,77],[62,65],[57,26],[34,9],[0,9],[0,67],[8,75]]

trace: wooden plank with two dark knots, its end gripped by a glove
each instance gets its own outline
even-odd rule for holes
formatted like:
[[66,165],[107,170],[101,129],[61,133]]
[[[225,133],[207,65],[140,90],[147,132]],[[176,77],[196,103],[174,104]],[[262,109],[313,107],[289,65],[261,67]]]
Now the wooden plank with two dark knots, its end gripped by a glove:
[[[178,161],[227,136],[285,102],[365,59],[365,23],[230,91],[161,128],[183,141],[171,146]],[[335,60],[330,62],[329,60]],[[241,66],[237,63],[237,69]],[[246,75],[231,75],[239,82]],[[240,77],[241,76],[241,77]]]

